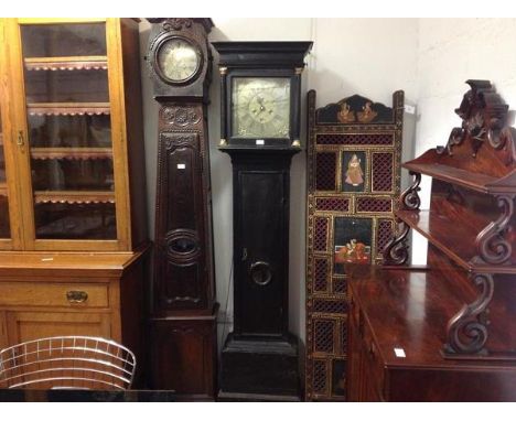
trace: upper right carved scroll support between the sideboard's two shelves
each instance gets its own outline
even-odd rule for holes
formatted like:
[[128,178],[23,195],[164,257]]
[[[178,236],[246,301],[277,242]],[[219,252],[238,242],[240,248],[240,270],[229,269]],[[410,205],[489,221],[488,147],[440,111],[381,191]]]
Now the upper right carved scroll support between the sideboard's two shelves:
[[514,215],[515,195],[496,196],[502,214],[495,222],[490,223],[475,239],[477,256],[472,259],[474,263],[503,265],[509,261],[513,247],[506,238],[512,229],[510,220]]

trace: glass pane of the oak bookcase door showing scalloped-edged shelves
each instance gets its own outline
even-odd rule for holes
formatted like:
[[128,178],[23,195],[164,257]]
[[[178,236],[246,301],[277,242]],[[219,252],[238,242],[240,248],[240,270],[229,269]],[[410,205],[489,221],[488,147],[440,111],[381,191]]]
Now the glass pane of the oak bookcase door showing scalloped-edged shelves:
[[106,24],[22,24],[35,238],[117,239]]

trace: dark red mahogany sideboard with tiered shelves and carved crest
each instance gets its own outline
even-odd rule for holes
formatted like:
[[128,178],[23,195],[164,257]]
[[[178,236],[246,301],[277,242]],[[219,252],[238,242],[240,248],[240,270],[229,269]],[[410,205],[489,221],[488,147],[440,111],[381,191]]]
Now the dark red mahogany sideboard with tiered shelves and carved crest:
[[[467,84],[448,144],[402,165],[415,182],[386,266],[350,268],[351,400],[516,399],[514,130],[491,83]],[[429,241],[424,270],[404,267],[410,229]]]

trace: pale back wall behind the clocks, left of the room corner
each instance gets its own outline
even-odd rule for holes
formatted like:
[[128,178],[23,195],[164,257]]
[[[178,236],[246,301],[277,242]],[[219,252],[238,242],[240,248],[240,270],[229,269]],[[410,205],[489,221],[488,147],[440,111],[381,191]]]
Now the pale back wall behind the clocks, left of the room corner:
[[[394,90],[404,89],[409,102],[416,95],[416,19],[224,19],[214,18],[211,41],[313,41],[304,73],[303,93],[318,90],[318,106],[361,94],[391,104]],[[150,25],[140,25],[141,55],[147,51]],[[209,141],[217,300],[221,323],[233,320],[233,213],[232,165],[217,150],[219,139],[219,77],[214,63],[211,86]],[[150,229],[153,233],[155,201],[157,105],[142,62],[144,131]],[[302,97],[302,142],[305,144],[305,95]],[[413,123],[407,117],[407,147],[412,144]],[[304,341],[305,281],[305,153],[292,161],[290,203],[290,330]],[[226,299],[229,302],[226,303]],[[227,307],[227,317],[226,317]],[[219,326],[221,339],[230,324]],[[222,343],[222,341],[219,341]]]

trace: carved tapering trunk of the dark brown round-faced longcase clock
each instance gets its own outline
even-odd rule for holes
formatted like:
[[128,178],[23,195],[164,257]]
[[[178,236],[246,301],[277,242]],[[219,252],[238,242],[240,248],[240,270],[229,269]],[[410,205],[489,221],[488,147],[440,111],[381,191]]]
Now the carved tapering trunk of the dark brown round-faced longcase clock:
[[[160,109],[155,306],[212,312],[211,197],[202,104]],[[206,162],[205,162],[206,161]],[[207,261],[207,265],[206,265]]]

